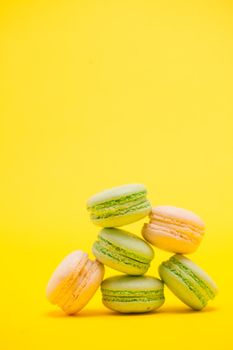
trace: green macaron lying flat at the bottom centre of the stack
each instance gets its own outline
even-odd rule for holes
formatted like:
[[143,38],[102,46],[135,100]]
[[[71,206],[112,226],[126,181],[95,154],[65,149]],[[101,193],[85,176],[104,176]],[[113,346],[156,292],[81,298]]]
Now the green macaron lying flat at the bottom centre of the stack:
[[122,313],[142,313],[164,303],[163,283],[149,276],[114,276],[101,284],[103,304]]

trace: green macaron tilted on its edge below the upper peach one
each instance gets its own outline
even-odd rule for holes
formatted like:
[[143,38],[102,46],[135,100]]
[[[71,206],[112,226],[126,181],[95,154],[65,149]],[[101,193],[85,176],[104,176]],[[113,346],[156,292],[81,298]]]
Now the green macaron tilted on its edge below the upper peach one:
[[203,309],[217,294],[215,282],[183,255],[173,255],[163,262],[159,275],[168,288],[194,310]]

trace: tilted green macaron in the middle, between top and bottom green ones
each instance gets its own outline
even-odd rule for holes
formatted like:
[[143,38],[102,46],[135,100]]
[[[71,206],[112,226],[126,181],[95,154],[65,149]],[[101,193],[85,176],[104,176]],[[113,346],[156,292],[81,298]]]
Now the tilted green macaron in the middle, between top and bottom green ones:
[[147,242],[117,228],[102,229],[92,252],[101,263],[129,275],[143,275],[154,257]]

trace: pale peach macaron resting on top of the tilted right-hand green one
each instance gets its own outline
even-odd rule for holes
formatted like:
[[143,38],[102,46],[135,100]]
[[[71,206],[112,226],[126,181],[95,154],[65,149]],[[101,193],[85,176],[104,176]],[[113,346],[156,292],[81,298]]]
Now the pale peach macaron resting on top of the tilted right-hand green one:
[[173,253],[193,253],[204,235],[204,223],[193,212],[172,207],[152,208],[150,222],[144,224],[142,236],[154,246]]

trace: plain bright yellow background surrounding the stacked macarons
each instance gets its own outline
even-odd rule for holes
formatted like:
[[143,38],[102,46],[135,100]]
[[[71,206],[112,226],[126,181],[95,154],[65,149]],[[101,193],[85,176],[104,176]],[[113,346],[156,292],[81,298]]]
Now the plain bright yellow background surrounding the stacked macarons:
[[[232,18],[227,0],[1,1],[1,349],[233,347]],[[192,258],[219,296],[197,313],[166,290],[121,316],[98,292],[64,317],[44,290],[66,254],[91,254],[87,198],[132,182],[204,219]]]

